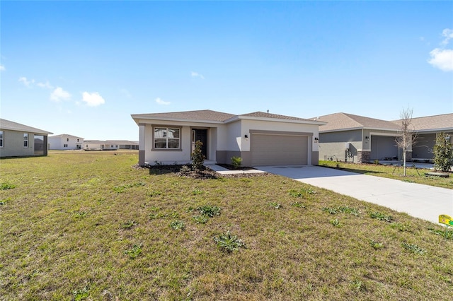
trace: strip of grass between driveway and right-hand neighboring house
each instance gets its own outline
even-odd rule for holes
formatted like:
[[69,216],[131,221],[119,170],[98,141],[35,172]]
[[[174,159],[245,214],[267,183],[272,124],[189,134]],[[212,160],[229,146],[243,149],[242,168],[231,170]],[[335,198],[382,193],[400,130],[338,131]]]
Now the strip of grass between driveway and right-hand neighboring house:
[[336,161],[319,161],[319,166],[335,167],[349,172],[357,172],[364,175],[374,175],[377,177],[388,177],[389,179],[399,179],[403,182],[418,183],[453,189],[453,175],[451,177],[427,177],[425,170],[421,168],[410,167],[408,163],[406,167],[406,177],[403,176],[403,167],[394,167],[392,165],[376,165],[376,164],[355,164],[355,163],[340,163]]

